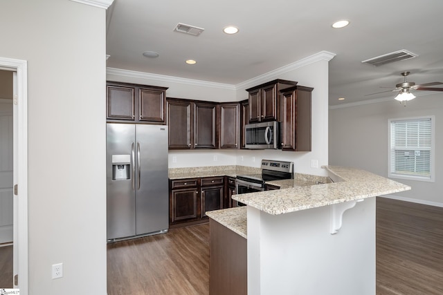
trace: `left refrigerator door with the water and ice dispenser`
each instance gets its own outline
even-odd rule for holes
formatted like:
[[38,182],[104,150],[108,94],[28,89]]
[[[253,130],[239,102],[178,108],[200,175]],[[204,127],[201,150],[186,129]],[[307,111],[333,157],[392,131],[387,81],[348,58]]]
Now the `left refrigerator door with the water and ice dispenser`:
[[135,125],[109,123],[106,131],[107,239],[111,240],[136,234]]

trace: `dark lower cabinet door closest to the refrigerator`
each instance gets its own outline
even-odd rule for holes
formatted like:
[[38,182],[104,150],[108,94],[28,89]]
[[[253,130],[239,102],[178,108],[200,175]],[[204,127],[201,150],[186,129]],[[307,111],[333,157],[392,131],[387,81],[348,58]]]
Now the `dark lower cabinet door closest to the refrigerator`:
[[199,193],[194,189],[176,189],[171,191],[170,221],[188,221],[199,217]]

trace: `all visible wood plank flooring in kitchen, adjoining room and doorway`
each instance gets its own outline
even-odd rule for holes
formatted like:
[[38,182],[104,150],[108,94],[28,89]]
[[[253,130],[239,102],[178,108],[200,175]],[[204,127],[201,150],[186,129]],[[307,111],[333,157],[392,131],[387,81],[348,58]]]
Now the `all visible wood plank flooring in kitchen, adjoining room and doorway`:
[[[107,292],[208,294],[209,226],[115,242]],[[0,287],[12,287],[12,247],[0,247]],[[443,294],[443,208],[377,198],[377,295]]]

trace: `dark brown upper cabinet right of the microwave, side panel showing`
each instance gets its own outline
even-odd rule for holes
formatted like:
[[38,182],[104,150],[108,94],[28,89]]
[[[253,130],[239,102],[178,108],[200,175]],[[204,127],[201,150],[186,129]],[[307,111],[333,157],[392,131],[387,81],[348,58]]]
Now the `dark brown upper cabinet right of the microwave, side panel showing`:
[[311,92],[293,86],[281,91],[282,151],[311,151]]

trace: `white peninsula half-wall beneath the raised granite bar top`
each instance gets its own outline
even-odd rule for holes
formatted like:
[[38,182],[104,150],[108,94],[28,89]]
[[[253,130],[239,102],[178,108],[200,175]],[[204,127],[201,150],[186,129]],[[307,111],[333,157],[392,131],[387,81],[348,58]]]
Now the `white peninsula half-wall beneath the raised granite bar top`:
[[248,206],[249,294],[375,294],[375,198],[343,213],[332,205],[273,216]]

